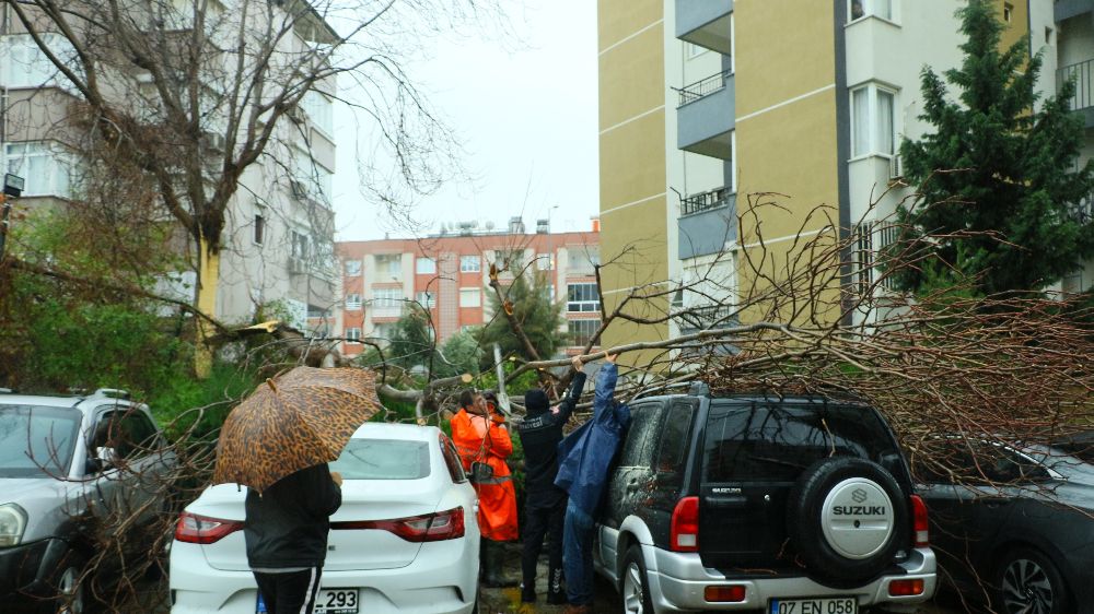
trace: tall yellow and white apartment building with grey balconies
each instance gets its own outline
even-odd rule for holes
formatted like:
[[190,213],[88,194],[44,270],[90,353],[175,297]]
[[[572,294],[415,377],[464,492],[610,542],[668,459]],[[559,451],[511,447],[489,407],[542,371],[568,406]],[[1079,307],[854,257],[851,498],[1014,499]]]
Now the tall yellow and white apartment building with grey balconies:
[[[700,292],[644,308],[695,308],[748,280],[742,267],[756,250],[784,259],[800,237],[838,214],[859,253],[880,249],[884,224],[909,193],[901,176],[905,137],[929,129],[920,71],[956,67],[963,42],[955,0],[600,0],[601,220],[605,300],[633,288],[705,278]],[[1094,2],[999,1],[1004,45],[1029,36],[1044,55],[1041,90],[1079,79],[1073,101],[1094,154]],[[777,192],[778,208],[749,194]],[[1090,216],[1090,203],[1084,203]],[[1080,212],[1080,214],[1083,214]],[[738,227],[738,215],[741,225]],[[742,236],[738,236],[741,234]],[[889,235],[892,233],[888,233]],[[854,279],[875,274],[870,261]],[[1058,290],[1094,284],[1094,265]],[[712,309],[710,321],[723,314]],[[836,312],[818,315],[835,318]],[[747,317],[747,315],[745,315]],[[859,314],[857,319],[869,317]],[[656,340],[703,322],[609,331],[606,344]]]

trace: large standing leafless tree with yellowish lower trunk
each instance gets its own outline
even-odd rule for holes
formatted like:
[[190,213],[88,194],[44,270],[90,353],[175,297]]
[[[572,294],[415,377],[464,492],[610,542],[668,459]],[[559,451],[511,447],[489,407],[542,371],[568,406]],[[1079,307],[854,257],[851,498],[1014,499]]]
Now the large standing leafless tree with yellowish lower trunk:
[[[138,193],[128,194],[129,206],[143,203],[144,216],[174,229],[197,273],[194,306],[213,318],[226,232],[251,223],[231,223],[241,202],[277,210],[276,201],[307,197],[302,213],[283,214],[325,224],[319,234],[330,237],[328,177],[315,163],[333,150],[313,141],[333,101],[379,135],[361,169],[374,199],[396,212],[438,187],[454,141],[405,62],[430,33],[500,14],[493,0],[5,4],[15,21],[7,34],[28,37],[56,71],[56,88],[39,95],[49,111],[28,111],[38,125],[28,129],[54,129],[50,138],[78,154],[85,193],[102,194],[104,177],[120,177]],[[88,200],[103,204],[98,213],[110,209]],[[333,265],[326,246],[291,249],[321,252]],[[205,371],[209,353],[200,355]]]

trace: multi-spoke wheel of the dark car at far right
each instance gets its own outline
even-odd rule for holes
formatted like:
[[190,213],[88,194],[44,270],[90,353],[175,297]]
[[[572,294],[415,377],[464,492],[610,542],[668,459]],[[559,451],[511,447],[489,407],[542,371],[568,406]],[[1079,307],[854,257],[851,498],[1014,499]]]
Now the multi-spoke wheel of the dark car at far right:
[[1005,614],[1071,612],[1071,594],[1063,576],[1044,554],[1029,548],[1008,554],[996,578],[997,599]]

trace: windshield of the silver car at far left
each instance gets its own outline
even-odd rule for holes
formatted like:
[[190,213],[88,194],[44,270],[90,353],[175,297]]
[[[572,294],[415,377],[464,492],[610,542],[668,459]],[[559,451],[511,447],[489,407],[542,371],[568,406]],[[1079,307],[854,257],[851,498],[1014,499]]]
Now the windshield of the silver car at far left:
[[67,476],[80,417],[71,408],[0,405],[0,477]]

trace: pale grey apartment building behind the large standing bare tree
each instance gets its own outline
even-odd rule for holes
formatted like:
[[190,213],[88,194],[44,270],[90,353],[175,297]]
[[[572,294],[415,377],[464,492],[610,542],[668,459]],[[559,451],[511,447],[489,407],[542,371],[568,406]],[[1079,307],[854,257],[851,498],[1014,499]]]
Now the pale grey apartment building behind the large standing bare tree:
[[[167,10],[166,5],[152,7]],[[193,27],[186,21],[188,7],[178,5],[181,12],[173,14],[172,19],[181,20],[177,27],[160,22],[149,27],[158,27],[159,34],[167,33],[164,36],[185,32]],[[212,15],[220,14],[216,11],[222,10],[220,4],[210,4],[207,19],[212,20]],[[307,15],[293,35],[281,37],[278,44],[306,46],[329,42],[330,36],[334,33],[317,15]],[[72,45],[65,37],[45,33],[43,38],[58,57],[74,57]],[[155,96],[140,95],[141,87],[152,87],[151,75],[131,66],[109,68],[117,73],[103,69],[112,80],[106,91],[132,106],[135,116],[156,117]],[[125,72],[128,69],[136,74]],[[203,84],[206,93],[210,101],[222,99],[223,74],[209,70],[221,81]],[[333,83],[322,85],[328,94],[333,93]],[[202,99],[202,108],[213,105],[210,101]],[[25,179],[19,205],[32,213],[80,199],[82,143],[79,130],[71,128],[71,118],[80,113],[80,103],[73,84],[9,14],[0,26],[0,155],[8,173]],[[222,110],[211,108],[202,119],[203,151],[210,167],[216,167],[226,146],[226,120],[219,115]],[[211,314],[218,320],[247,322],[260,307],[267,312],[288,314],[290,322],[301,329],[322,327],[330,319],[338,302],[330,202],[336,160],[333,117],[333,98],[317,91],[309,92],[279,121],[265,154],[243,173],[222,231],[216,311]],[[154,127],[153,119],[147,121],[149,126],[142,128]],[[210,190],[213,185],[210,179]],[[165,224],[177,225],[166,213],[163,220]],[[181,253],[196,261],[193,238],[182,229],[177,235]],[[196,283],[193,270],[181,270],[166,275],[156,291],[193,300]]]

